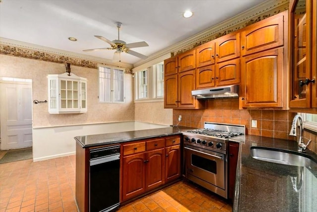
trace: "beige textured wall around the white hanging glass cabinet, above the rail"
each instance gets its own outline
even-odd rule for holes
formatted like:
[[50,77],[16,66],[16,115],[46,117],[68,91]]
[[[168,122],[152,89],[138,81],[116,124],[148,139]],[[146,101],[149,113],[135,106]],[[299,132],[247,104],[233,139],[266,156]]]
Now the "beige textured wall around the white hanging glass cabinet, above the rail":
[[[48,100],[48,74],[65,72],[65,65],[0,55],[0,76],[32,79],[33,100]],[[97,69],[71,66],[71,73],[87,78],[88,112],[58,114],[48,112],[48,104],[33,104],[33,127],[78,125],[134,120],[133,80],[125,74],[125,103],[98,103]]]

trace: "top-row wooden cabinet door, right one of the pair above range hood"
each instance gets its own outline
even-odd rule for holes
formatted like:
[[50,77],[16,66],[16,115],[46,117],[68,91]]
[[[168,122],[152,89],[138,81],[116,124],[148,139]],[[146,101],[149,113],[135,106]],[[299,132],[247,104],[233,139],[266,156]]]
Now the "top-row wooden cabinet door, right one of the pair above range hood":
[[214,42],[216,63],[240,57],[240,33],[224,35]]

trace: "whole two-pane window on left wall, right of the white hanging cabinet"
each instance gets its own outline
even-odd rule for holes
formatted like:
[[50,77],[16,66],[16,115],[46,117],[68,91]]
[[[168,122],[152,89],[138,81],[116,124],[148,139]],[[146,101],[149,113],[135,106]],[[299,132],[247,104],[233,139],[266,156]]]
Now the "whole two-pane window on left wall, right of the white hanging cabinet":
[[124,70],[99,66],[98,76],[99,102],[124,102]]

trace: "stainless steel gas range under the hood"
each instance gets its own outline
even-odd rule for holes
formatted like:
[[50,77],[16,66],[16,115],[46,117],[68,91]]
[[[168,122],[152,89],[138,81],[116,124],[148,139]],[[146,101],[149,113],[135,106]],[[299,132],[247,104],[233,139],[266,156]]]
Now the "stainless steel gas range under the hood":
[[227,199],[227,141],[245,135],[245,126],[205,122],[183,135],[186,178]]

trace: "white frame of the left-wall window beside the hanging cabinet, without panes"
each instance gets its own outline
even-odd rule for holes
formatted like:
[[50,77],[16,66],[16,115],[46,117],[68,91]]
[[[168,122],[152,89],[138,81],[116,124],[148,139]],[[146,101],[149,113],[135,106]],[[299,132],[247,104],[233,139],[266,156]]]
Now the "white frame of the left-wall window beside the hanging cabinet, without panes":
[[[101,101],[101,98],[100,98],[100,89],[106,89],[106,86],[105,87],[101,87],[102,84],[100,83],[100,68],[107,68],[107,69],[110,69],[110,101]],[[114,82],[114,78],[113,78],[113,75],[114,75],[114,70],[120,70],[122,71],[122,79],[123,79],[123,96],[122,96],[122,101],[115,101],[115,82]],[[124,103],[125,102],[125,82],[124,82],[124,69],[122,68],[118,68],[118,67],[110,67],[110,66],[102,66],[102,65],[99,65],[98,66],[98,102],[99,103]]]

